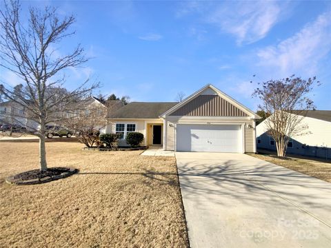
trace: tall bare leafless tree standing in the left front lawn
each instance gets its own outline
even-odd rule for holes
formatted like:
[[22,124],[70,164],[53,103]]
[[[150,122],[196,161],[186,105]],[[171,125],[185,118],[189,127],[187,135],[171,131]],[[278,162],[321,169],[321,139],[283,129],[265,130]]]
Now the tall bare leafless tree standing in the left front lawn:
[[[73,16],[60,18],[57,10],[46,7],[41,11],[30,8],[29,17],[23,20],[19,1],[4,1],[0,10],[0,66],[23,81],[20,90],[1,85],[1,94],[21,106],[26,116],[37,123],[33,134],[39,137],[39,165],[47,169],[45,134],[48,123],[57,123],[70,117],[73,106],[86,99],[98,87],[88,80],[75,90],[63,94],[66,69],[77,67],[88,59],[83,48],[60,55],[55,49],[63,39],[70,37]],[[65,113],[65,114],[63,114]]]

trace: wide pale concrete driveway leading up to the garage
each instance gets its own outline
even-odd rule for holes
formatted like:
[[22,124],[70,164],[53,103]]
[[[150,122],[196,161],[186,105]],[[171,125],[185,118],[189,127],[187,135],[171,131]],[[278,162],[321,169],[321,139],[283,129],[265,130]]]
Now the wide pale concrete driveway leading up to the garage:
[[245,154],[176,158],[191,247],[330,247],[330,183]]

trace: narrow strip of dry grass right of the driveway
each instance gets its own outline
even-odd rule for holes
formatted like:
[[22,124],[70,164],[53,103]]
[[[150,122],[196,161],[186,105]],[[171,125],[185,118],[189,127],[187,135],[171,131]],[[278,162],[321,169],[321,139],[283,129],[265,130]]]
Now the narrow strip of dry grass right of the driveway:
[[281,165],[296,172],[325,180],[331,183],[331,163],[323,160],[312,160],[309,157],[288,155],[285,158],[279,158],[275,154],[249,154],[255,158]]

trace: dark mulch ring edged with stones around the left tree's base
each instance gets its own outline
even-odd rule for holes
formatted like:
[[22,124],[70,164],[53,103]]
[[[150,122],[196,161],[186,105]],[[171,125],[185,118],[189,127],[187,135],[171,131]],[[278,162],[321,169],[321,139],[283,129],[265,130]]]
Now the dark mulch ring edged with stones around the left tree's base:
[[6,178],[6,183],[16,185],[33,185],[39,183],[48,183],[51,180],[66,178],[78,172],[78,169],[68,167],[52,167],[41,172],[40,169],[32,169],[28,172],[22,172]]

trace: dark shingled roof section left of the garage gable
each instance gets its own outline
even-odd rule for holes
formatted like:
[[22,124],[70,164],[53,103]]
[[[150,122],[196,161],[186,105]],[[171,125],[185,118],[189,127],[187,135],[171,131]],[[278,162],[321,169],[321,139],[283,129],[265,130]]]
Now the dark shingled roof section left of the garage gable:
[[110,113],[108,118],[159,118],[165,111],[178,103],[142,103],[132,102],[116,112]]

